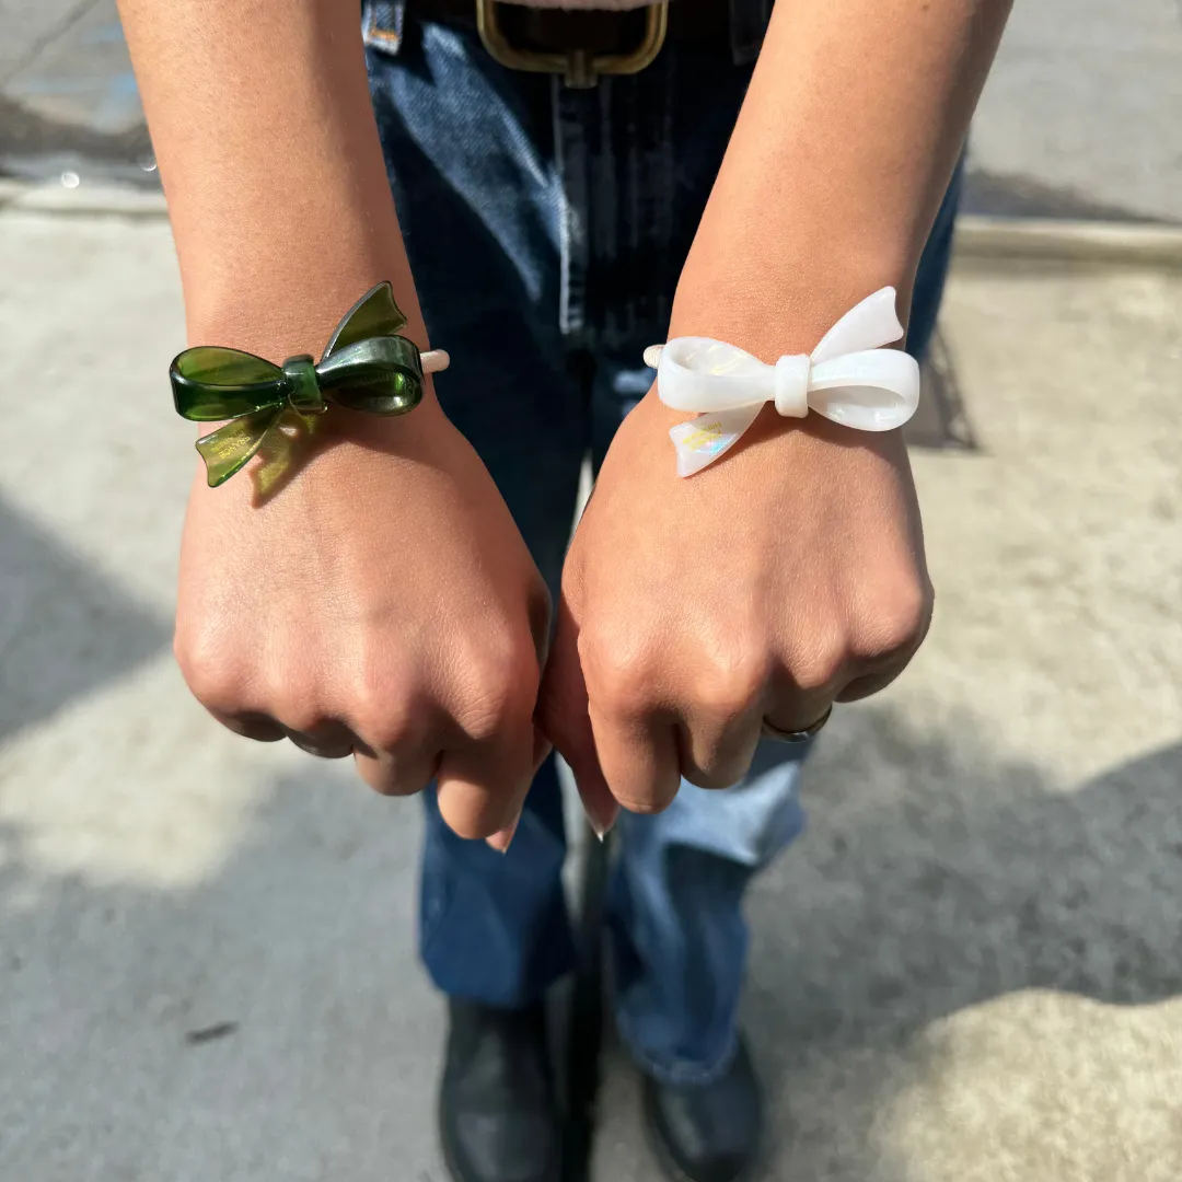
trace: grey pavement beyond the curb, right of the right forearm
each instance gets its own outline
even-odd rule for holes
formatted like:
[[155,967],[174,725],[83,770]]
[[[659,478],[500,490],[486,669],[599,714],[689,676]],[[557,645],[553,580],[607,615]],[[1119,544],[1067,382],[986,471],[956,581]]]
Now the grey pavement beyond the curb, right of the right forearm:
[[1182,222],[1177,0],[1017,0],[973,124],[967,204]]

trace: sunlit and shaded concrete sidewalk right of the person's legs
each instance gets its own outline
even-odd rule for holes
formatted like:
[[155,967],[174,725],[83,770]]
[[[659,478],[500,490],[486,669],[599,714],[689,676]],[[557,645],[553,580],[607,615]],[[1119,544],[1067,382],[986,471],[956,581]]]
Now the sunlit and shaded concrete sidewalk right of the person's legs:
[[[1182,1171],[1178,280],[957,268],[979,449],[916,450],[937,605],[751,904],[769,1177]],[[651,1177],[622,1059],[599,1182]]]

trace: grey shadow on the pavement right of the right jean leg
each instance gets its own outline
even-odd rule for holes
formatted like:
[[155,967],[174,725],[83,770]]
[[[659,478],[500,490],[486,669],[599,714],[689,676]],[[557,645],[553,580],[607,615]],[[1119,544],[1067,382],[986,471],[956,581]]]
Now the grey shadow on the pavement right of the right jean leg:
[[[808,832],[754,896],[746,1020],[788,1115],[781,1160],[904,1182],[872,1125],[892,1052],[933,1021],[1024,989],[1182,992],[1182,743],[1063,792],[999,762],[972,717],[921,734],[849,714],[806,780]],[[829,1112],[800,1104],[819,1085]]]

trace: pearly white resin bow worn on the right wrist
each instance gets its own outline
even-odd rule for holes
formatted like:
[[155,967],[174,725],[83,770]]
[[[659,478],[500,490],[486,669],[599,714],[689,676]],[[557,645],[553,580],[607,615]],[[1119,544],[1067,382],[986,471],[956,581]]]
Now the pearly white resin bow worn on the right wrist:
[[728,450],[767,402],[788,417],[816,410],[862,431],[902,427],[920,402],[920,366],[898,349],[882,348],[902,336],[895,288],[883,287],[846,312],[811,355],[774,365],[709,337],[675,337],[645,349],[661,401],[701,411],[669,431],[677,475],[691,476]]

